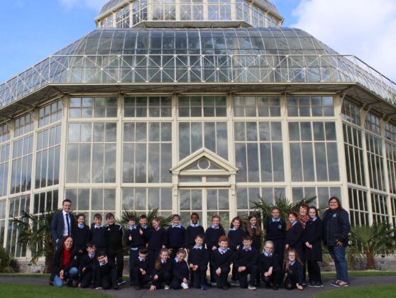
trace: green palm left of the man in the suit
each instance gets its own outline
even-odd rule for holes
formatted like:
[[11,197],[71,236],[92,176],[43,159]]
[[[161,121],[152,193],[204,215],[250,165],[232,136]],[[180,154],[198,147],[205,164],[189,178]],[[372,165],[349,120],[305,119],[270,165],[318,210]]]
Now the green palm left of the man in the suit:
[[55,212],[36,215],[23,211],[21,218],[12,219],[18,225],[18,243],[31,250],[31,263],[36,265],[39,258],[45,257],[44,273],[53,266],[55,244],[51,239],[51,223]]

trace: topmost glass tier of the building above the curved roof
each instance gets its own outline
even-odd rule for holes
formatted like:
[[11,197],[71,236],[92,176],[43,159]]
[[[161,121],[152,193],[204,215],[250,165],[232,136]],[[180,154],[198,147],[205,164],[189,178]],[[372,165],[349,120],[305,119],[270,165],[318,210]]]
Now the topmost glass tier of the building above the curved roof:
[[280,27],[267,0],[112,0],[95,19],[98,28]]

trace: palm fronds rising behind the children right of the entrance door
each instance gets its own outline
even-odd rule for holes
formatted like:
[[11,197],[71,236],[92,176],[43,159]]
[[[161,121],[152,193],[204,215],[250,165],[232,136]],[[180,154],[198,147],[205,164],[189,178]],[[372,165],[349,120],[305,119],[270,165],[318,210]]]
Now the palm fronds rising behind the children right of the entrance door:
[[311,197],[309,199],[301,199],[300,201],[293,203],[285,197],[275,195],[274,204],[268,203],[262,197],[259,198],[260,200],[258,202],[251,201],[251,204],[253,204],[253,209],[255,210],[255,212],[257,214],[260,214],[261,221],[265,228],[265,225],[272,218],[271,209],[273,209],[274,206],[280,208],[281,211],[280,217],[282,219],[287,219],[287,214],[290,211],[295,211],[298,214],[299,207],[301,207],[304,204],[308,204],[308,205],[312,204],[317,197]]

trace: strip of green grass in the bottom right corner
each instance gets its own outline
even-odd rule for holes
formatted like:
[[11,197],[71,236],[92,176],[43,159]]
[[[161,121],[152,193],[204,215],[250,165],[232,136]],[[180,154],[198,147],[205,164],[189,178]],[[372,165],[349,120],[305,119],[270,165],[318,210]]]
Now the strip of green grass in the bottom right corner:
[[334,298],[334,297],[395,297],[396,285],[375,285],[370,287],[348,287],[344,289],[333,289],[331,291],[314,294],[314,298]]

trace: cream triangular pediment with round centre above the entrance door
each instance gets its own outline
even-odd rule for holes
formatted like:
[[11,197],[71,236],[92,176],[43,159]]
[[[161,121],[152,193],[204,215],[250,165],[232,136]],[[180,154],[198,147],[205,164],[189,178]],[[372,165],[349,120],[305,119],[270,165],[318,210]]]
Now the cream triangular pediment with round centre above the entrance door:
[[211,172],[211,173],[227,173],[235,175],[238,167],[231,165],[228,160],[212,152],[207,148],[201,148],[170,169],[172,175],[179,175],[181,172]]

